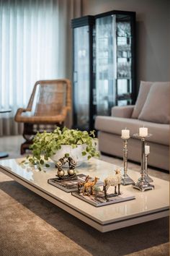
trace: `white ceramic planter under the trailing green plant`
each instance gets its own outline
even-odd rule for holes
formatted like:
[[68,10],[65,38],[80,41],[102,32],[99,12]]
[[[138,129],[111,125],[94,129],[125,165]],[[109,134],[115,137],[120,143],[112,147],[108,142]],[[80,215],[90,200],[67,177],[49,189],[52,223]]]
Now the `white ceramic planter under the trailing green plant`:
[[[81,155],[81,152],[85,150],[85,148],[86,144],[77,145],[77,148],[72,148],[71,145],[62,145],[61,149],[57,150],[55,155],[52,155],[50,158],[56,163],[60,158],[63,158],[63,156],[68,153],[69,156],[76,161],[76,166],[80,166],[81,163],[87,161],[87,155]],[[63,167],[68,167],[68,163]]]

